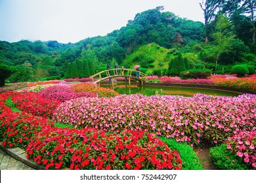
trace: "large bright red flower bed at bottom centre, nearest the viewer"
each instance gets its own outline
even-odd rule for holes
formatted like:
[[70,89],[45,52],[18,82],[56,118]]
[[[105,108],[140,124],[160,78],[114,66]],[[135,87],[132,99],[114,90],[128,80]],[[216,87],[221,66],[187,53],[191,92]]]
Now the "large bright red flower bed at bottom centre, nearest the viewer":
[[46,169],[182,169],[179,153],[144,131],[54,127],[33,137],[26,151]]

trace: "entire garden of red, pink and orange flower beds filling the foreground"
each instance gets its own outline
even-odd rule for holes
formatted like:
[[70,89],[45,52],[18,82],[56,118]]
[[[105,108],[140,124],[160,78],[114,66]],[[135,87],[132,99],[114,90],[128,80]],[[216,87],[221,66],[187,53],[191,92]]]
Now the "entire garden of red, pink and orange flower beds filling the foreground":
[[205,142],[216,165],[228,154],[219,168],[256,169],[253,94],[147,97],[56,80],[0,93],[0,125],[3,146],[45,169],[202,169],[193,147]]

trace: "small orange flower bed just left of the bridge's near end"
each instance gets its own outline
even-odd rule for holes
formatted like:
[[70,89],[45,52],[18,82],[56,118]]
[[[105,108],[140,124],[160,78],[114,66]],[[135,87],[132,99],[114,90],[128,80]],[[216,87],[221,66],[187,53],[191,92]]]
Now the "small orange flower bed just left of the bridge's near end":
[[75,92],[89,92],[95,93],[98,97],[116,97],[119,95],[115,90],[109,88],[102,88],[93,83],[75,84],[71,87]]

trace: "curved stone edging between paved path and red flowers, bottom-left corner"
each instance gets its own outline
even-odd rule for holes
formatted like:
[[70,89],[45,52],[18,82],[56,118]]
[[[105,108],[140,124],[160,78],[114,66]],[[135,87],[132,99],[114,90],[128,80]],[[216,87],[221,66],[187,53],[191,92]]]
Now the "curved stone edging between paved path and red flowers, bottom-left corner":
[[21,148],[5,148],[5,146],[0,143],[0,149],[9,154],[12,158],[17,159],[18,161],[21,161],[25,165],[28,165],[29,167],[32,167],[36,170],[45,170],[45,167],[42,167],[41,165],[38,165],[37,163],[33,163],[29,159],[26,158],[27,153],[22,150]]

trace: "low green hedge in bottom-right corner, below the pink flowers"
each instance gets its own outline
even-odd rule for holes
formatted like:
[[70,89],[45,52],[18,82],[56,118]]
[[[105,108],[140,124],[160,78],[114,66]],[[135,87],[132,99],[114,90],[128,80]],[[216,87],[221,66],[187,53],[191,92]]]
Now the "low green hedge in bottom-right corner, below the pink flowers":
[[227,149],[226,144],[215,146],[210,149],[210,155],[213,158],[213,163],[223,170],[250,170],[251,165],[244,162],[244,159],[239,158],[231,150]]

